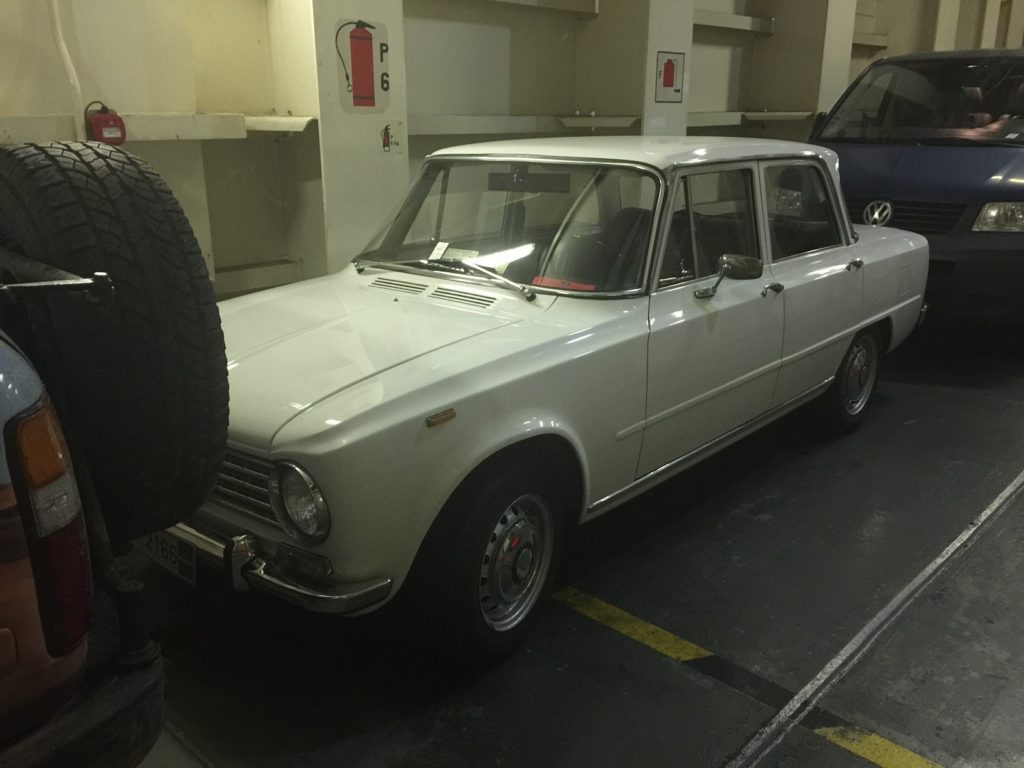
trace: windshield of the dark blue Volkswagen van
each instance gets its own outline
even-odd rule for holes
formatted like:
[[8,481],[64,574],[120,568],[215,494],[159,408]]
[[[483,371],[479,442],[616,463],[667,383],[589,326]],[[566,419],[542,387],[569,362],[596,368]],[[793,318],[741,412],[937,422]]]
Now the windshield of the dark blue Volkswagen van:
[[1024,59],[945,58],[869,68],[819,139],[1024,143]]

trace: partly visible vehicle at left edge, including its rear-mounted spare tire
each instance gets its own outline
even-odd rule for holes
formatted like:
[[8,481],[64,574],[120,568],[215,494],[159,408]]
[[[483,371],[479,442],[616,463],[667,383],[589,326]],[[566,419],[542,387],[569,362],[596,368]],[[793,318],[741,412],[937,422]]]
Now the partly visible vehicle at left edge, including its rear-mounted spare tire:
[[160,648],[116,554],[199,506],[226,413],[213,290],[160,177],[101,144],[0,147],[0,765],[153,745]]

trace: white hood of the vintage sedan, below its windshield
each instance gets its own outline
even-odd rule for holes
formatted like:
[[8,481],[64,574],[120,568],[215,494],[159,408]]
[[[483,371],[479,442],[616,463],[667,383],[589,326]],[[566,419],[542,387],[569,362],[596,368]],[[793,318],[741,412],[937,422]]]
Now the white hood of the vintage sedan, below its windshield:
[[[315,403],[435,349],[515,323],[520,317],[501,307],[525,304],[508,292],[496,297],[458,284],[445,289],[445,297],[454,289],[462,297],[495,302],[483,310],[465,299],[434,298],[441,289],[429,278],[379,274],[364,279],[346,269],[220,304],[231,442],[266,451],[282,427]],[[423,295],[410,295],[410,286]]]

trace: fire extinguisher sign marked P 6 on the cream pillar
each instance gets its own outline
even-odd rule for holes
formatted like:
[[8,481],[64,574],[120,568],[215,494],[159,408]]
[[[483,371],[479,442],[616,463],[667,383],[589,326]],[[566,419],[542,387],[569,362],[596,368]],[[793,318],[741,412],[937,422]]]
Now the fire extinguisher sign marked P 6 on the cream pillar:
[[334,30],[338,92],[345,112],[384,112],[391,90],[387,28],[361,18],[342,18]]

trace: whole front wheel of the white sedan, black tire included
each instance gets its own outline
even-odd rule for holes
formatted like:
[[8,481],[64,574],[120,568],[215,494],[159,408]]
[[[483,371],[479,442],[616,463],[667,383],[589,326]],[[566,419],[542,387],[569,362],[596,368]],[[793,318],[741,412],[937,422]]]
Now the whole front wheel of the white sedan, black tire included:
[[[550,473],[492,464],[438,516],[410,574],[421,635],[464,669],[494,664],[529,631],[561,559],[564,504]],[[505,558],[514,553],[514,559]]]

